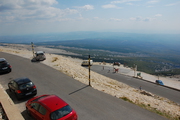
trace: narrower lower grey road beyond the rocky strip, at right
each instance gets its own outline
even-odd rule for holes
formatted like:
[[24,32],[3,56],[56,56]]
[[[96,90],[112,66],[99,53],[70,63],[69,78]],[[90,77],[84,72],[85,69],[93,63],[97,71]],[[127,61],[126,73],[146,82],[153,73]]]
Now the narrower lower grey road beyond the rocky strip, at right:
[[[109,68],[111,69],[111,72],[108,72]],[[104,76],[107,76],[109,78],[115,79],[117,81],[123,82],[127,85],[130,85],[134,88],[139,89],[139,86],[142,87],[142,89],[149,91],[151,93],[154,93],[156,95],[168,98],[178,104],[180,104],[180,92],[169,89],[160,85],[156,85],[150,82],[146,82],[137,78],[133,78],[130,76],[125,76],[119,73],[113,72],[113,66],[112,67],[105,67],[104,70],[102,69],[102,66],[100,65],[93,65],[91,67],[92,71],[95,71],[97,73],[100,73]]]

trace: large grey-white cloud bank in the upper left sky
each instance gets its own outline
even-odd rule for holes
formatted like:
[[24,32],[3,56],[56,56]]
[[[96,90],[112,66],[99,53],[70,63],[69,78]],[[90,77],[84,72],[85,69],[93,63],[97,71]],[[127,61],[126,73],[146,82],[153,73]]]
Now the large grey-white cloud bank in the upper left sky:
[[[57,20],[69,14],[77,14],[75,9],[59,9],[52,7],[58,4],[56,0],[1,0],[0,1],[0,21],[36,21],[36,20]],[[92,9],[86,6],[86,9]],[[4,17],[6,16],[6,17]],[[10,17],[11,16],[11,17]],[[11,18],[11,19],[10,19]]]

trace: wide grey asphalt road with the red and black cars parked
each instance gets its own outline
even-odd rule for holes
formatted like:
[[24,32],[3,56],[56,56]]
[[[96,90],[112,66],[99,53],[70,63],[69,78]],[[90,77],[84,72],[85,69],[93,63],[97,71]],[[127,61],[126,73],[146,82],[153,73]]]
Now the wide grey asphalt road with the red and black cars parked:
[[[166,118],[142,109],[134,104],[97,91],[73,78],[41,63],[0,52],[12,65],[12,72],[0,75],[0,83],[6,89],[7,83],[18,77],[28,77],[37,86],[38,95],[56,94],[77,111],[79,120],[166,120]],[[33,120],[25,112],[25,102],[17,101],[10,94],[26,120]]]

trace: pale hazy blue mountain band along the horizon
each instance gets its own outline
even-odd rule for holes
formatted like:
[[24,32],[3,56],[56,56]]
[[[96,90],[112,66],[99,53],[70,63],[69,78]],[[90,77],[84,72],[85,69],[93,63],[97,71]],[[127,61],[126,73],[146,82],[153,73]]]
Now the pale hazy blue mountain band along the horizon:
[[[167,44],[180,44],[180,34],[137,34],[122,32],[68,32],[51,33],[37,35],[16,35],[0,36],[0,42],[6,43],[30,43],[47,41],[66,41],[66,40],[131,40],[136,42],[155,41]],[[137,41],[138,40],[138,41]]]

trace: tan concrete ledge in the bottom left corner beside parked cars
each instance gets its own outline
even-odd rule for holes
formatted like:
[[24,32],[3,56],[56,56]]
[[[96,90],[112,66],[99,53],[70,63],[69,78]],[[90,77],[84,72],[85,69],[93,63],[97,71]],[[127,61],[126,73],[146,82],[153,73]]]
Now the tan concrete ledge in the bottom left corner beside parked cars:
[[7,115],[8,120],[24,120],[18,108],[14,105],[9,95],[0,84],[0,103]]

